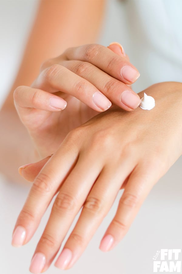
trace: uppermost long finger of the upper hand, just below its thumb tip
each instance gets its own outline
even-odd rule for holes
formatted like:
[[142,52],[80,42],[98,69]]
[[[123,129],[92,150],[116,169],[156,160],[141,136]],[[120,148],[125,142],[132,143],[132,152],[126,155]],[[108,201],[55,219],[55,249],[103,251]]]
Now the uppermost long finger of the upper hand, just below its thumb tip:
[[125,57],[99,44],[69,48],[64,55],[67,60],[89,62],[126,84],[134,83],[140,76],[138,70]]

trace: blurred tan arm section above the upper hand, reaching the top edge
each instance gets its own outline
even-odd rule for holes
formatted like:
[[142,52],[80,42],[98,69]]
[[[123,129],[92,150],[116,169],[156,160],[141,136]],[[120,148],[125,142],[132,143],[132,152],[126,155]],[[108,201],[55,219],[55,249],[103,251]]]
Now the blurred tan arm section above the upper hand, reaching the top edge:
[[17,86],[30,86],[48,58],[68,47],[96,43],[104,14],[104,0],[40,1],[19,72],[5,102],[13,105]]

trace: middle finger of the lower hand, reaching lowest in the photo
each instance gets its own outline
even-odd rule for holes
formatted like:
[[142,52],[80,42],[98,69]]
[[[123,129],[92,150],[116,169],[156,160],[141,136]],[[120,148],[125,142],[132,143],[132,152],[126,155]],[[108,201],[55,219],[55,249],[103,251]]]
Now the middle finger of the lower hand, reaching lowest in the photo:
[[[72,221],[82,207],[103,167],[104,157],[94,162],[92,158],[92,153],[89,152],[84,157],[79,156],[76,166],[59,189],[48,223],[33,255],[33,258],[36,258],[37,254],[46,258],[43,271],[49,267],[56,256]],[[91,162],[93,163],[92,166],[90,165]],[[31,272],[41,272],[41,267],[41,262],[37,265],[32,259]]]

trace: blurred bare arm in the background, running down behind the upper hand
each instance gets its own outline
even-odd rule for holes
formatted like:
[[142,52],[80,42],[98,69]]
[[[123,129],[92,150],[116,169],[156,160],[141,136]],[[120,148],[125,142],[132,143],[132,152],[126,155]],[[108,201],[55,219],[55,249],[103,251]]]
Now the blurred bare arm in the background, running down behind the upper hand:
[[19,72],[0,111],[0,172],[10,180],[25,183],[18,167],[39,160],[16,113],[15,88],[31,85],[45,59],[60,55],[68,47],[95,43],[103,12],[104,0],[40,1]]

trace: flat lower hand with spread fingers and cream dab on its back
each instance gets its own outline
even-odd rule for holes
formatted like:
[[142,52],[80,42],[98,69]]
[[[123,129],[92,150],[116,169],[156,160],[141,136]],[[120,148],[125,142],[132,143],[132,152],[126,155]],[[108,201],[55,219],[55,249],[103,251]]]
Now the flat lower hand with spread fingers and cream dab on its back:
[[[16,232],[14,229],[12,244],[26,244],[31,239],[58,192],[35,250],[31,272],[49,268],[83,206],[55,263],[61,269],[71,268],[118,191],[125,188],[99,246],[102,251],[113,249],[128,231],[153,185],[182,154],[182,84],[159,83],[144,92],[155,99],[152,110],[138,107],[126,112],[113,107],[72,130],[51,157],[34,163],[33,169],[31,164],[22,168],[22,176],[34,182],[15,224],[15,229],[20,227]],[[139,96],[143,97],[143,92]]]

